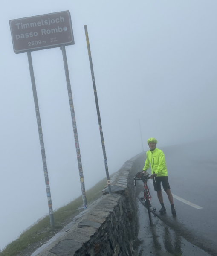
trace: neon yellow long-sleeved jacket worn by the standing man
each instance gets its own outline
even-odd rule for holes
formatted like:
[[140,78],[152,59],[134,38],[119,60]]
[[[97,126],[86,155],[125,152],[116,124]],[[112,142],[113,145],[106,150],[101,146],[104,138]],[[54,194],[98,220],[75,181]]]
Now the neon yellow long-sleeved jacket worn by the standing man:
[[151,174],[156,173],[157,177],[168,176],[165,156],[163,151],[158,148],[155,150],[146,152],[144,171],[148,170],[151,166]]

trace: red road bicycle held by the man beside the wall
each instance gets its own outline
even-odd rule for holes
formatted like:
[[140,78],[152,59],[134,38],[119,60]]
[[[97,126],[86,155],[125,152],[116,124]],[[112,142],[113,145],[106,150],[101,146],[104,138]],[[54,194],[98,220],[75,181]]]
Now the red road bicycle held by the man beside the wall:
[[[145,201],[145,208],[148,209],[148,217],[149,217],[150,225],[152,226],[150,211],[156,212],[156,208],[154,207],[152,209],[152,206],[150,203],[151,195],[150,195],[150,192],[148,189],[148,184],[147,184],[147,181],[148,181],[148,179],[150,179],[150,177],[148,177],[148,176],[149,176],[149,174],[148,174],[148,172],[146,172],[139,178],[134,177],[134,186],[136,186],[136,180],[142,180],[143,186],[144,186],[144,197],[141,196],[140,200]],[[151,210],[150,210],[150,208],[151,208]]]

